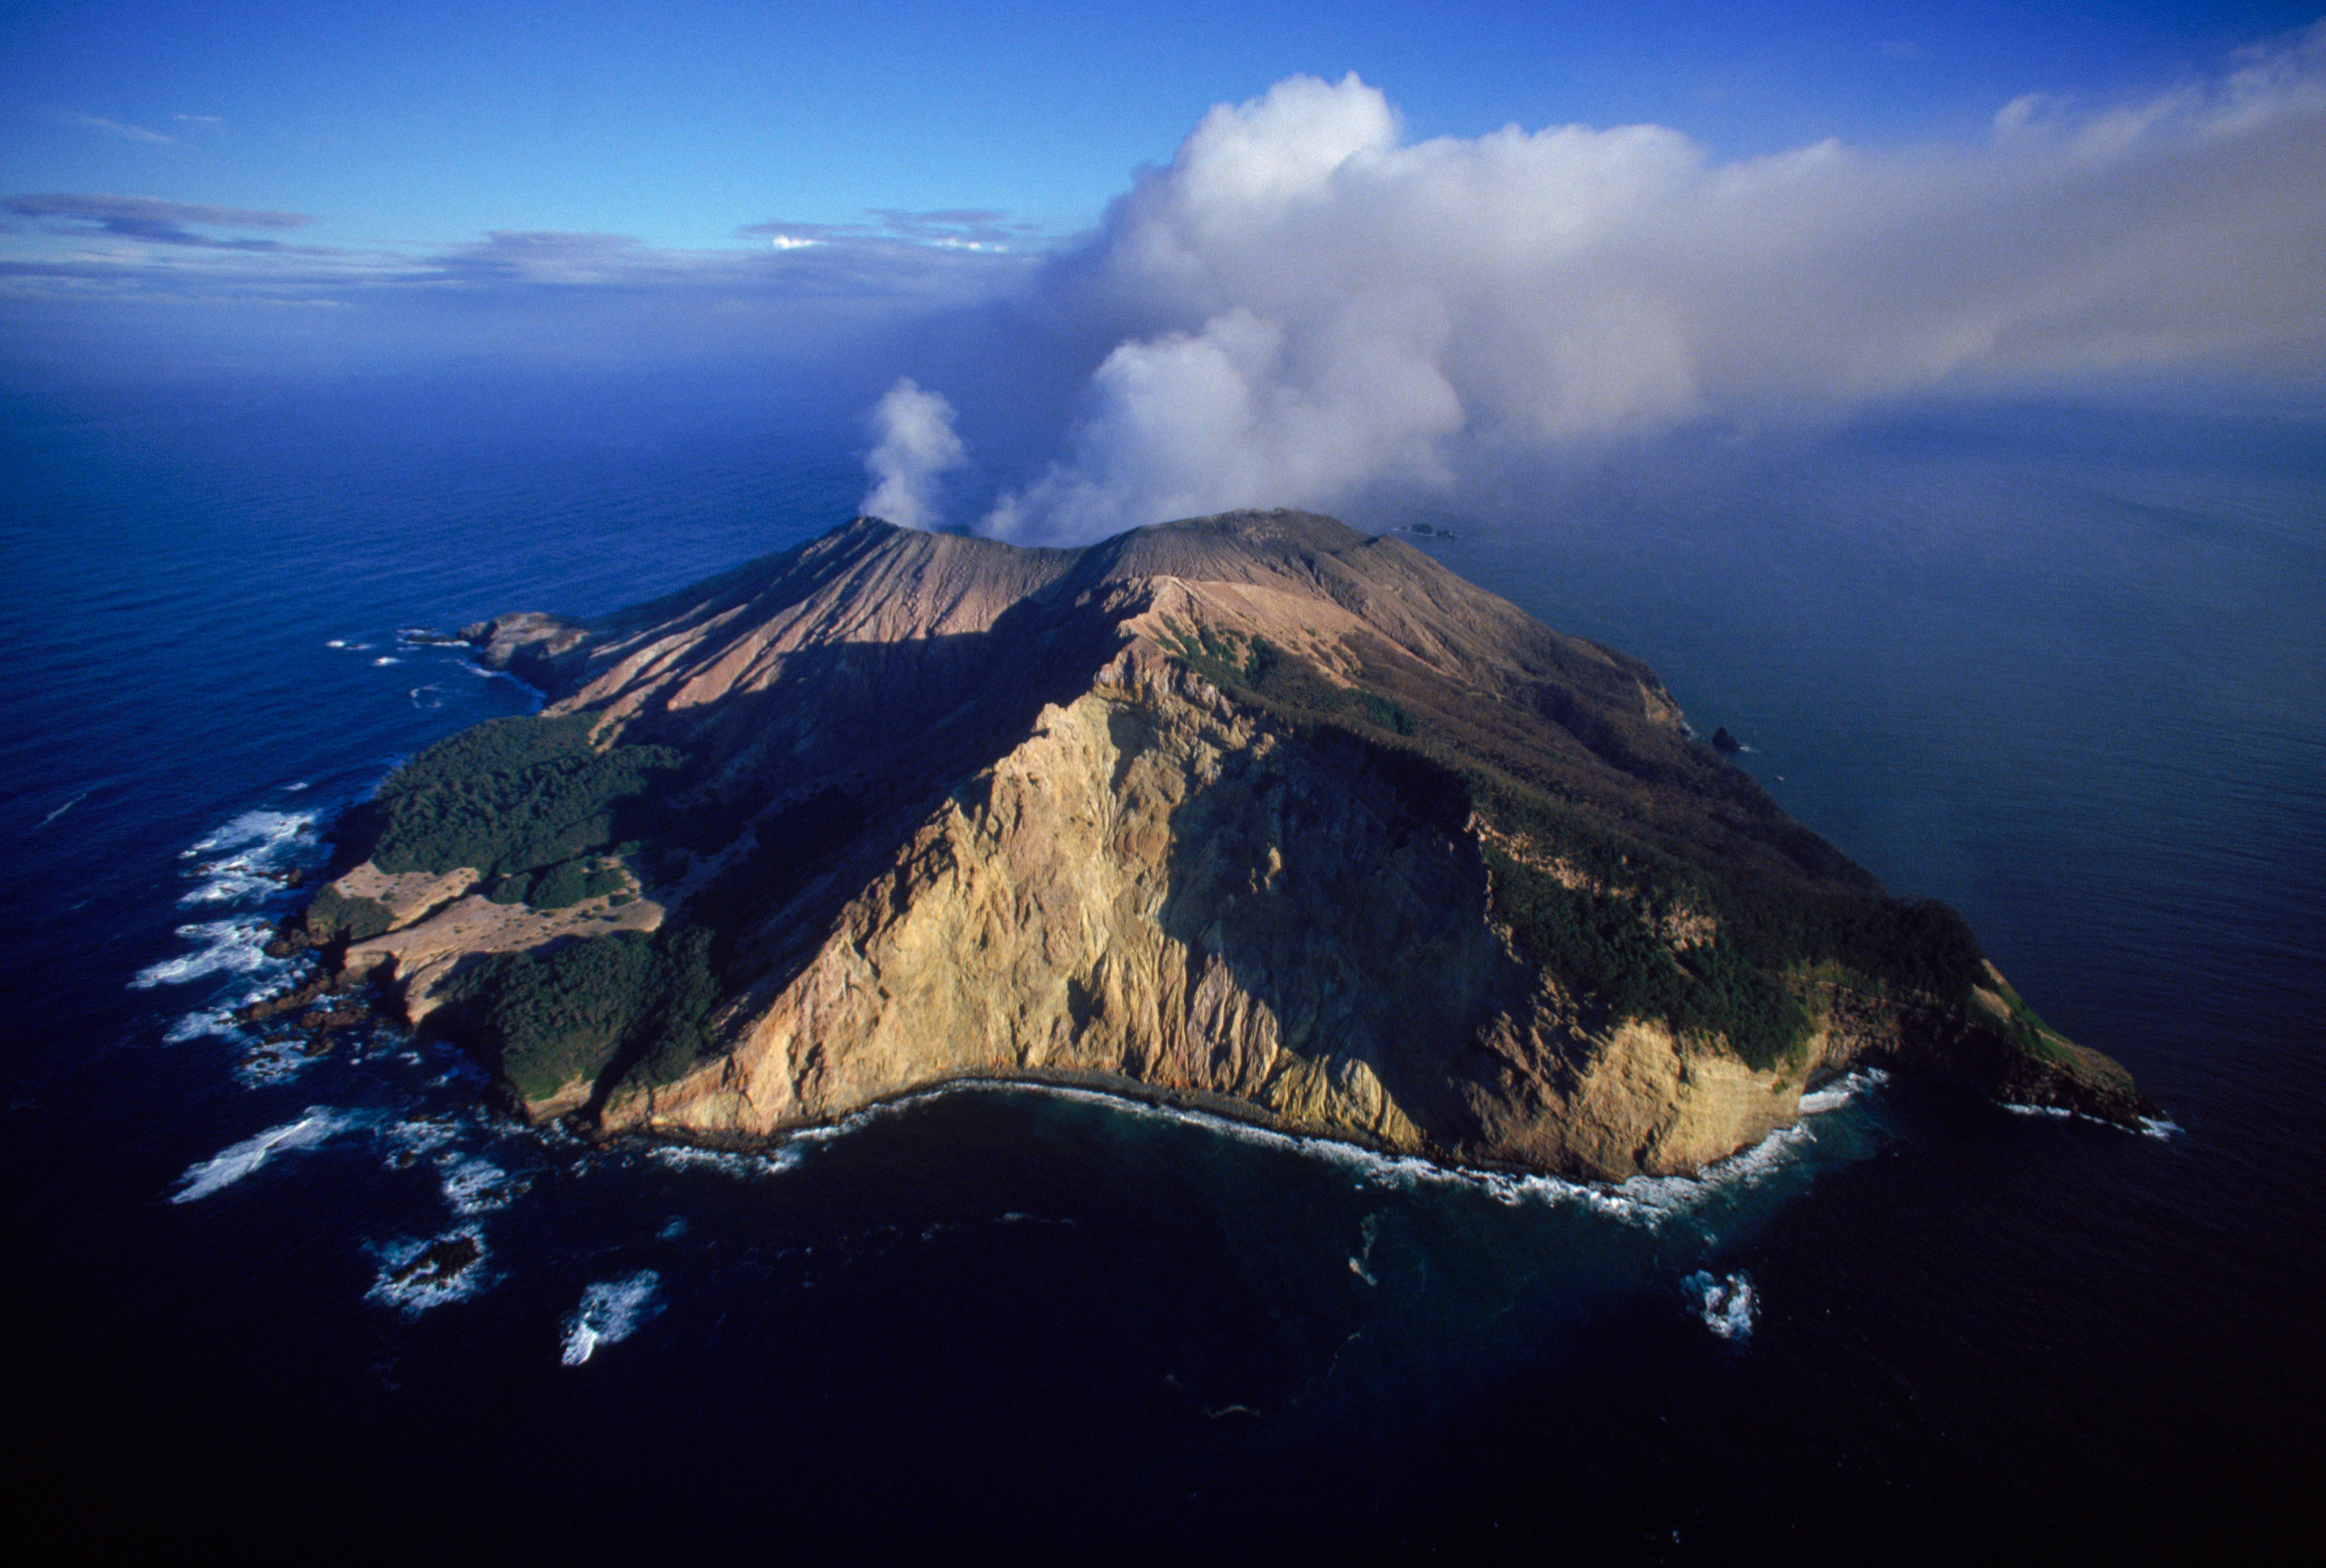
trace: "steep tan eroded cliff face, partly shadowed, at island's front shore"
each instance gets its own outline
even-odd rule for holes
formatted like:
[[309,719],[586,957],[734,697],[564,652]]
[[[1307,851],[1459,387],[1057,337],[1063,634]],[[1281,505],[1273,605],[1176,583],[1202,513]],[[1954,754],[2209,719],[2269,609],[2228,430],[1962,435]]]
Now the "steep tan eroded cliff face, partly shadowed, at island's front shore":
[[951,1077],[1063,1079],[1619,1179],[1789,1126],[1828,1047],[1756,1072],[1589,1028],[1493,924],[1472,824],[1326,768],[1151,644],[1044,707],[726,1026],[728,1054],[626,1084],[605,1126],[751,1142]]

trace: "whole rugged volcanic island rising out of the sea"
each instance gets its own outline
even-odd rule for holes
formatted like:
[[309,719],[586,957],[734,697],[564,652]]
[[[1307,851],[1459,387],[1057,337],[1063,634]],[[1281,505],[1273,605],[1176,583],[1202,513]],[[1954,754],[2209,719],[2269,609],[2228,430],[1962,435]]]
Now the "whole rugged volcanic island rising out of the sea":
[[749,1145],[1072,1082],[1605,1179],[1856,1063],[2149,1110],[1647,665],[1323,516],[856,519],[465,637],[549,705],[388,779],[286,940],[530,1117]]

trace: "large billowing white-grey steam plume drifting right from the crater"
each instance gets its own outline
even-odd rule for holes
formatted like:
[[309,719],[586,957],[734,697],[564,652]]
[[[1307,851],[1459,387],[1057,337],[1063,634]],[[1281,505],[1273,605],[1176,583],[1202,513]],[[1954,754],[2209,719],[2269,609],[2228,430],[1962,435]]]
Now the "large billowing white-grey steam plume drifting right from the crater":
[[986,526],[1444,486],[1479,454],[2117,370],[2326,365],[2326,23],[1975,149],[1717,163],[1656,126],[1407,144],[1354,74],[1221,105],[1047,279],[1140,323]]

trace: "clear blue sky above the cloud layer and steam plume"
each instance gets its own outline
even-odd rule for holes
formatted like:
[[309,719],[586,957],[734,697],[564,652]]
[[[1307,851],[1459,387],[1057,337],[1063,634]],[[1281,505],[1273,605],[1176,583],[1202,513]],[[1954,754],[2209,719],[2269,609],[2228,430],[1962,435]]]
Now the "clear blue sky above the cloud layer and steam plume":
[[1358,72],[1414,137],[1654,121],[1742,156],[1977,135],[2291,30],[2286,5],[0,7],[0,191],[744,244],[761,221],[1091,226],[1214,102]]

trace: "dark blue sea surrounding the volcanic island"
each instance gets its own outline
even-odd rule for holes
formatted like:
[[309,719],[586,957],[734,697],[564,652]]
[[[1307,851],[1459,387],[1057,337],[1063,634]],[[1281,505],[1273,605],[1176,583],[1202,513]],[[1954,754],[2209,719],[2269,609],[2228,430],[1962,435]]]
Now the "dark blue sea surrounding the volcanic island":
[[[1956,1561],[2219,1542],[2305,1482],[2300,423],[1896,421],[1568,477],[1430,544],[1656,663],[2175,1135],[1858,1082],[1705,1182],[1586,1191],[984,1091],[705,1161],[498,1124],[395,1035],[221,1024],[277,979],[267,872],[530,705],[400,626],[793,544],[851,507],[856,440],[684,384],[7,393],[26,1540]],[[395,1284],[454,1238],[461,1291]],[[91,1475],[119,1508],[67,1510]]]

